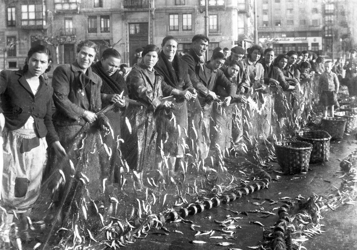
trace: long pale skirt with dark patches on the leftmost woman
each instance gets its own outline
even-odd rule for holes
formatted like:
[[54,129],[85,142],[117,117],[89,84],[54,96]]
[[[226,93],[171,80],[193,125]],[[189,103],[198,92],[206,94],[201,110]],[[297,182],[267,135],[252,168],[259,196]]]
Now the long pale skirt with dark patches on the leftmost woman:
[[37,138],[33,129],[5,130],[2,171],[2,206],[25,212],[39,196],[42,171],[46,165],[45,138]]

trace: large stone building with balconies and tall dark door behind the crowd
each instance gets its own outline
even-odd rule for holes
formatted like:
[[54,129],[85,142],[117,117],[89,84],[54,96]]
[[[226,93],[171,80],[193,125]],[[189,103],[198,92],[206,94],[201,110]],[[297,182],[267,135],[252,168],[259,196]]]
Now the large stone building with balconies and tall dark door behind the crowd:
[[[252,6],[253,0],[208,0],[210,53],[252,42]],[[193,35],[205,34],[205,10],[205,0],[2,0],[0,68],[22,67],[38,43],[47,44],[55,63],[70,63],[85,39],[101,52],[117,49],[122,62],[130,62],[138,47],[159,46],[167,35],[185,53]]]

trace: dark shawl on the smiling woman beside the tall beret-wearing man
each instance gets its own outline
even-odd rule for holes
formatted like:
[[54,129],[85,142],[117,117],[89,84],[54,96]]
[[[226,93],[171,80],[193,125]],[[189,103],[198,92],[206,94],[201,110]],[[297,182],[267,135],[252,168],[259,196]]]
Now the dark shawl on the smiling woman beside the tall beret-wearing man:
[[160,75],[164,77],[164,81],[168,85],[175,88],[177,88],[180,82],[185,79],[185,72],[187,74],[187,65],[182,62],[182,59],[180,59],[178,55],[175,55],[171,65],[171,62],[167,60],[163,51],[161,51],[159,60],[157,61],[154,68]]

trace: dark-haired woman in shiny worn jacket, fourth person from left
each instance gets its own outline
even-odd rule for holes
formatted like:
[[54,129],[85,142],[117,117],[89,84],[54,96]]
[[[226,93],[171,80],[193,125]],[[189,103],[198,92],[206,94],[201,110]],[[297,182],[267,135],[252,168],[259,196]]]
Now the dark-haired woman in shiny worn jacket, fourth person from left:
[[156,124],[154,114],[162,107],[170,107],[170,101],[160,101],[162,97],[162,76],[154,66],[159,60],[159,48],[154,44],[146,45],[142,51],[142,61],[132,67],[126,79],[130,99],[138,101],[146,109],[139,109],[128,117],[132,127],[131,135],[122,147],[123,156],[131,169],[139,171],[138,182],[142,187],[142,169],[149,162],[149,154],[155,145]]

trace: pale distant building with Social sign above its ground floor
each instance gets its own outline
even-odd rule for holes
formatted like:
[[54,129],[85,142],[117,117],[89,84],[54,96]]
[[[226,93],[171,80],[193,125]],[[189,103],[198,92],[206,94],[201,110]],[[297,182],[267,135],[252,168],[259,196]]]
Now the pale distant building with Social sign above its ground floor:
[[[306,3],[304,3],[306,2]],[[276,54],[322,51],[322,0],[257,0],[258,37]]]

